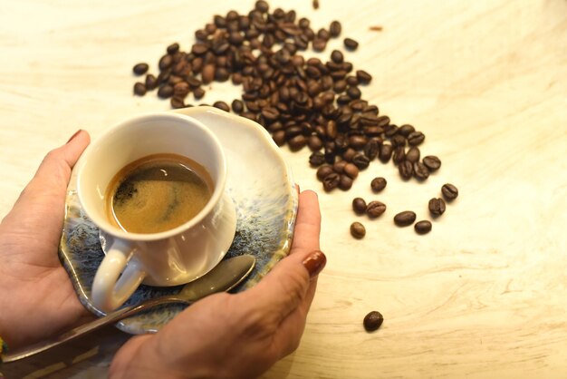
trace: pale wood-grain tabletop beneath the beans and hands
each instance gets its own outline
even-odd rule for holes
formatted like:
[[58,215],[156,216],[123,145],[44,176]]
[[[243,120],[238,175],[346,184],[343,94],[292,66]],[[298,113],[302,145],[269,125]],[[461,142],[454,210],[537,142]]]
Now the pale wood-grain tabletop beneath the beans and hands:
[[[374,77],[363,97],[424,131],[422,151],[443,166],[418,183],[375,162],[350,191],[327,194],[308,152],[283,149],[301,188],[319,192],[329,261],[302,345],[264,378],[567,377],[567,1],[319,3],[271,5],[316,29],[341,20],[341,37],[360,42],[347,59]],[[131,94],[134,63],[155,72],[168,44],[187,49],[213,15],[253,4],[3,1],[0,216],[77,129],[96,137],[132,114],[168,110],[155,92]],[[370,32],[377,24],[383,31]],[[231,101],[231,87],[214,83],[203,101]],[[389,180],[379,196],[375,176]],[[394,227],[400,210],[428,219],[428,199],[446,182],[460,196],[431,233]],[[357,196],[388,210],[356,217]],[[367,227],[360,241],[349,234],[355,220]],[[385,321],[368,334],[361,322],[374,309]],[[127,338],[109,329],[12,376],[101,377]]]

